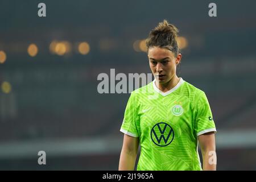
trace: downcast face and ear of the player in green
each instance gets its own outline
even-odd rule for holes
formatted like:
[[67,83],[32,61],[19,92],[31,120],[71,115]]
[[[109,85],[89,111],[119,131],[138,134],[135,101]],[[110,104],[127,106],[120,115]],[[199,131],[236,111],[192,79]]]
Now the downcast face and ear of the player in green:
[[166,48],[151,47],[148,49],[150,69],[159,84],[165,84],[176,76],[176,65],[180,63],[181,54],[177,56]]

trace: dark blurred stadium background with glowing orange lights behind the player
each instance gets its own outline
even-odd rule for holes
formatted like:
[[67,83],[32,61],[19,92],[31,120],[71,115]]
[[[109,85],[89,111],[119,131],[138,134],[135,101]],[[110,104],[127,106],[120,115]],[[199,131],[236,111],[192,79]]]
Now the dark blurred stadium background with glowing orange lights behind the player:
[[167,19],[179,76],[212,107],[217,169],[255,170],[256,1],[213,1],[214,18],[210,2],[1,0],[0,169],[117,170],[130,94],[99,94],[97,76],[150,73],[143,39]]

